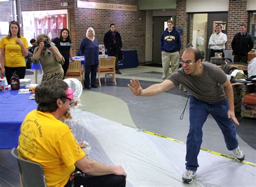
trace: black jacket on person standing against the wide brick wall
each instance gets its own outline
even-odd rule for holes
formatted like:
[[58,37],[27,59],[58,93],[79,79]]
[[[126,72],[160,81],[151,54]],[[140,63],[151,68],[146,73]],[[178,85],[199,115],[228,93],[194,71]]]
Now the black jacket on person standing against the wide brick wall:
[[122,39],[119,32],[116,31],[116,44],[113,44],[112,31],[109,30],[105,33],[104,45],[107,49],[107,54],[119,54],[122,48]]

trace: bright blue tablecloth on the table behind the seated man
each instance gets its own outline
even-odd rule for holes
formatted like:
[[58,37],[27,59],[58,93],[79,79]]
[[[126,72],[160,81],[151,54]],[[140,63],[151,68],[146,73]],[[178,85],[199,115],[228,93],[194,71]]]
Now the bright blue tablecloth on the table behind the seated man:
[[18,146],[21,124],[25,116],[37,108],[31,94],[18,94],[18,91],[0,92],[0,149]]

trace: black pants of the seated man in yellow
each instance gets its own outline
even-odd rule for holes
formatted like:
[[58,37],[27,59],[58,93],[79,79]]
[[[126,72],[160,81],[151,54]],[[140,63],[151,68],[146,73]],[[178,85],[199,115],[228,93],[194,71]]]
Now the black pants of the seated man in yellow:
[[[80,187],[81,185],[86,187],[125,187],[126,179],[120,175],[103,175],[103,176],[89,176],[86,178],[74,178],[74,187]],[[66,183],[65,187],[70,187],[71,182]]]

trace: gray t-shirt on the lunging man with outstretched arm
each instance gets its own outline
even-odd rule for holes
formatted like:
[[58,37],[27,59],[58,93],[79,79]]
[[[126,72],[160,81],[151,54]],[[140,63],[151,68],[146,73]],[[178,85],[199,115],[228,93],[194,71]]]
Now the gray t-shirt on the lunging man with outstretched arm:
[[185,74],[183,68],[169,76],[174,84],[182,84],[191,95],[204,102],[218,102],[226,98],[224,84],[227,75],[223,70],[211,63],[201,63],[203,65],[203,74],[200,77],[193,77]]

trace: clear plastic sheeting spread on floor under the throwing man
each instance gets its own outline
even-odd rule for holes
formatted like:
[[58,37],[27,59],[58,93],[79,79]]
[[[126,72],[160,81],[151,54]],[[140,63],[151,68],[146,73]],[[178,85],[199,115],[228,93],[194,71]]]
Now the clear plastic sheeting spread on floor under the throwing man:
[[[70,122],[78,141],[92,147],[90,157],[122,165],[126,186],[188,186],[182,182],[186,146],[143,133],[83,110],[73,110]],[[156,124],[157,125],[157,124]],[[161,128],[161,127],[159,127]],[[200,151],[200,167],[190,186],[255,186],[256,167]]]

